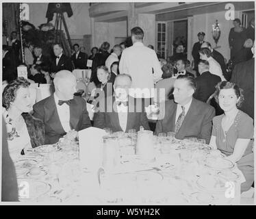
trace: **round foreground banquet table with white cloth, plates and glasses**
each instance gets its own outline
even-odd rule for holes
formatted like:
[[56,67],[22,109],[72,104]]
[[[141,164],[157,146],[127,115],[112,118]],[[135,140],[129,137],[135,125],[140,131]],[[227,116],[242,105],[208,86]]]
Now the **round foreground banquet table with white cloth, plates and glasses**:
[[[223,177],[222,170],[207,166],[210,149],[199,150],[198,143],[179,140],[164,153],[161,140],[154,136],[155,158],[146,160],[136,155],[134,144],[125,145],[125,138],[131,139],[118,138],[120,159],[111,170],[82,166],[74,140],[27,151],[14,162],[19,200],[68,205],[240,204],[242,172],[233,164],[225,170],[233,175]],[[222,186],[208,188],[207,180]]]

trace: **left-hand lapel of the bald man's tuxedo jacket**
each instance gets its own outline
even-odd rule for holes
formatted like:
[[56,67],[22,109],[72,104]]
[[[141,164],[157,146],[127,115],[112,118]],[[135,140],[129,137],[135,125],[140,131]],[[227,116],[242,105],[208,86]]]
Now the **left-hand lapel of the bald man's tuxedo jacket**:
[[48,103],[44,105],[44,112],[46,118],[45,122],[47,123],[48,120],[54,121],[54,123],[49,123],[51,128],[57,133],[65,133],[62,123],[60,123],[59,114],[57,114],[57,107],[53,95],[49,98]]

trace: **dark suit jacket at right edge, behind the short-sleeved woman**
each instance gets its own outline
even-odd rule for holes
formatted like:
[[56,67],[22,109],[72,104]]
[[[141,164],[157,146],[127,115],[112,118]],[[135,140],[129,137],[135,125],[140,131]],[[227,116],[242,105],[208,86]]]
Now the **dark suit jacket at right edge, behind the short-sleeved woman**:
[[254,62],[255,59],[240,62],[235,68],[230,79],[244,90],[244,102],[240,110],[254,118]]

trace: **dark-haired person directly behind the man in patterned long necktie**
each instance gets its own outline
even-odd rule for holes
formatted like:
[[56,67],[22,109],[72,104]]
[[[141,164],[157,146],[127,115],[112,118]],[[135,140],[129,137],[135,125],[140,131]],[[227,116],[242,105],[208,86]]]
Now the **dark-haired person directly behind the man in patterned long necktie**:
[[[154,95],[154,101],[159,103],[162,101],[167,101],[168,99],[170,99],[170,94],[172,93],[173,90],[173,86],[175,83],[175,79],[172,78],[172,74],[173,74],[173,66],[168,63],[165,64],[162,67],[162,71],[163,71],[163,75],[162,75],[162,80],[158,81],[155,84],[155,88],[156,88],[156,92],[157,94]],[[164,89],[164,96],[161,95],[160,93],[160,88]],[[157,96],[159,95],[159,96]]]

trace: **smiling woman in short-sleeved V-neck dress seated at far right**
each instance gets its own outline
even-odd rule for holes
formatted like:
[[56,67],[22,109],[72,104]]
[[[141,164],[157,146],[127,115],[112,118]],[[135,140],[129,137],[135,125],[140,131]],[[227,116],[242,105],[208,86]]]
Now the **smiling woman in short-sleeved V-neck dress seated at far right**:
[[238,110],[244,96],[242,89],[235,83],[218,83],[215,98],[224,114],[214,117],[209,144],[227,155],[225,159],[238,164],[246,179],[241,185],[241,191],[244,192],[251,188],[254,180],[253,119]]

